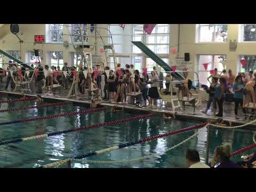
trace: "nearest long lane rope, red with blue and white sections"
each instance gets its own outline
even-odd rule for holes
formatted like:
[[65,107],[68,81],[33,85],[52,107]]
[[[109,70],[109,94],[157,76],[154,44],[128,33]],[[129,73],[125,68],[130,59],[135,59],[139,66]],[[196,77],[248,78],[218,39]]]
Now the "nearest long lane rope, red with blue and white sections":
[[83,159],[83,158],[90,157],[90,156],[93,156],[93,155],[98,155],[98,154],[106,153],[108,151],[112,151],[112,150],[121,149],[121,148],[124,148],[124,147],[129,147],[129,146],[137,145],[139,143],[153,141],[153,140],[156,140],[158,138],[167,137],[167,136],[170,136],[170,135],[173,135],[173,134],[178,134],[178,133],[184,133],[184,132],[192,131],[192,130],[195,130],[195,129],[198,129],[198,128],[202,128],[202,127],[206,126],[208,123],[209,122],[201,123],[201,124],[189,126],[189,127],[183,128],[183,129],[174,130],[174,131],[166,132],[166,133],[163,133],[163,134],[158,134],[158,135],[155,135],[153,137],[148,137],[148,138],[145,138],[145,139],[140,139],[140,140],[137,140],[137,141],[132,141],[132,142],[120,144],[118,146],[113,146],[113,147],[109,147],[109,148],[98,150],[98,151],[92,151],[92,152],[84,154],[84,155],[78,155],[76,157],[70,157],[70,158],[67,158],[67,159],[60,160],[58,162],[49,163],[49,164],[43,165],[43,167],[47,168],[47,167],[52,167],[52,166],[60,166],[63,163],[66,163],[68,161],[76,161],[77,159]]

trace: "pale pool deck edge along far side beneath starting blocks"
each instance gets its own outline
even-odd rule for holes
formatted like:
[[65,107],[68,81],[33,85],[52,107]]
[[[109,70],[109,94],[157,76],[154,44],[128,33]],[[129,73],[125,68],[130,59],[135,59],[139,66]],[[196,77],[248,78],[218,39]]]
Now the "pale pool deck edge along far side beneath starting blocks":
[[[66,91],[67,90],[63,90]],[[12,92],[12,91],[0,91],[0,93],[7,93],[7,94],[11,94],[11,95],[27,95],[27,96],[33,96],[36,97],[36,94],[30,93],[30,94],[22,94],[19,92]],[[65,94],[67,95],[67,94]],[[90,100],[89,99],[84,99],[84,98],[66,98],[65,96],[60,97],[60,95],[56,95],[56,96],[47,96],[42,94],[41,95],[43,99],[50,99],[50,100],[57,100],[57,101],[69,101],[69,102],[75,102],[75,103],[81,103],[84,105],[90,105]],[[163,106],[162,109],[147,109],[145,107],[138,107],[138,106],[132,106],[129,104],[119,104],[119,103],[109,103],[107,101],[102,101],[101,103],[102,106],[118,106],[118,107],[123,107],[124,110],[126,111],[141,111],[141,112],[153,112],[153,113],[157,113],[157,114],[162,114],[162,113],[166,113],[166,112],[171,112],[171,110],[167,110],[165,109],[165,107]],[[194,119],[194,120],[198,120],[198,121],[212,121],[217,119],[218,117],[215,117],[212,113],[212,111],[209,110],[209,112],[207,113],[207,115],[201,113],[201,111],[206,107],[206,104],[204,102],[202,102],[202,106],[197,106],[196,107],[196,111],[195,113],[193,112],[193,107],[186,107],[186,110],[183,111],[179,108],[177,108],[177,118],[178,119]],[[159,108],[159,102],[158,102],[158,108]],[[235,119],[235,114],[234,114],[234,105],[228,105],[228,106],[224,106],[224,111],[223,111],[223,119],[226,121],[230,121],[233,123],[233,125],[241,125],[241,124],[246,124],[249,123],[250,121],[244,120],[242,118],[243,114],[241,111],[239,111],[239,119]],[[253,126],[252,126],[253,125]],[[253,123],[250,128],[256,129],[256,123]]]

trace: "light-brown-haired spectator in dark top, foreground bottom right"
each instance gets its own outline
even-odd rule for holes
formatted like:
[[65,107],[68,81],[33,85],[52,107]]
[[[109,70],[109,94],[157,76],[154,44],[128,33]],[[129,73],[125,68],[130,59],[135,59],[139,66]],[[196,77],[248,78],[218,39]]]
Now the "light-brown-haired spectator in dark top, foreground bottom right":
[[230,160],[231,145],[224,144],[215,148],[211,167],[214,168],[243,168],[241,165],[236,164]]

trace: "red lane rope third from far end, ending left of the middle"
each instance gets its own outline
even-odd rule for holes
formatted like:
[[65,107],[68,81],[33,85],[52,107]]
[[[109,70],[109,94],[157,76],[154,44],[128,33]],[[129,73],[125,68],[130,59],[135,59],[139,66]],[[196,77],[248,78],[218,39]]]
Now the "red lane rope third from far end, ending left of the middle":
[[11,122],[3,122],[3,123],[0,123],[0,125],[7,125],[7,124],[9,125],[9,124],[14,124],[14,123],[26,123],[26,122],[30,122],[30,121],[36,121],[36,120],[66,117],[66,116],[78,115],[78,114],[87,114],[87,113],[90,113],[92,111],[102,111],[102,110],[105,110],[105,109],[106,108],[92,108],[92,109],[88,109],[88,110],[84,110],[84,111],[71,111],[71,112],[68,112],[68,113],[57,114],[57,115],[46,115],[46,116],[42,116],[42,117],[34,117],[34,118],[21,119],[21,120],[11,121]]

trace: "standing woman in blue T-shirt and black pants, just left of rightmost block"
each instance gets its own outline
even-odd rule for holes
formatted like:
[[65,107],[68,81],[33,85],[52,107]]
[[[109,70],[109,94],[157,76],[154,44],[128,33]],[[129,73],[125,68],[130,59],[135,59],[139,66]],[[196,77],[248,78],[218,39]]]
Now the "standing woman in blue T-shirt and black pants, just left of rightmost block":
[[233,91],[235,92],[234,94],[234,100],[235,100],[235,115],[236,119],[239,119],[237,116],[237,111],[238,111],[238,106],[240,106],[243,109],[243,113],[245,114],[245,110],[243,108],[243,89],[245,87],[245,84],[243,83],[243,78],[241,75],[238,75],[235,79],[235,84],[233,86]]

